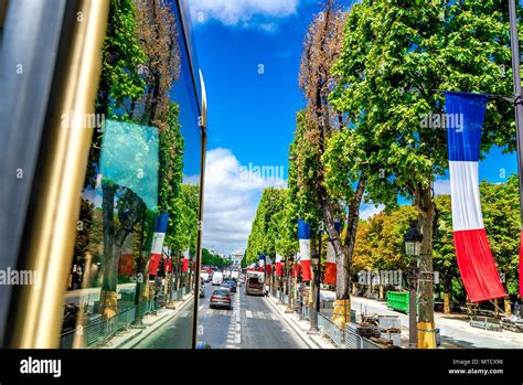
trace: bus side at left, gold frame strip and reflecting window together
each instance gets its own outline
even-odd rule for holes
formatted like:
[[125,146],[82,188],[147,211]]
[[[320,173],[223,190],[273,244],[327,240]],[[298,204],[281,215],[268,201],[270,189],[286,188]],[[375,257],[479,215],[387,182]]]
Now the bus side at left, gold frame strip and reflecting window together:
[[[25,162],[25,184],[1,177],[11,190],[1,195],[0,227],[20,247],[0,267],[34,271],[39,285],[1,289],[0,343],[127,347],[119,332],[162,318],[178,332],[158,347],[195,347],[205,93],[186,4],[45,2],[10,1],[0,30],[2,68],[17,68],[24,39],[34,52],[18,68],[41,67],[24,79],[8,72],[2,85],[13,90],[2,101],[6,164]],[[31,24],[20,22],[31,7]],[[40,57],[42,50],[55,56]],[[18,114],[24,103],[40,109]],[[22,147],[25,158],[17,158]]]

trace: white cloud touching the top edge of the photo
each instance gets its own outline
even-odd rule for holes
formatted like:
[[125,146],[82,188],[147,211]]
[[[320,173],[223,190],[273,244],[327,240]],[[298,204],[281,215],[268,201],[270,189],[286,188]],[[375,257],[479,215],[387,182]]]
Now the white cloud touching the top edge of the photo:
[[259,20],[291,15],[298,3],[299,0],[191,0],[190,7],[195,23],[216,19],[225,25],[259,26],[273,32],[275,24]]

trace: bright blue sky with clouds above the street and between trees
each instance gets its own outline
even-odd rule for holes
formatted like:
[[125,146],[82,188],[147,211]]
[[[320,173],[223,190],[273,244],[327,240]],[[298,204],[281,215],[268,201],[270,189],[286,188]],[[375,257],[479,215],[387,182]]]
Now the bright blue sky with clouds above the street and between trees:
[[[349,4],[349,0],[346,3]],[[298,87],[302,41],[319,12],[319,0],[191,0],[193,32],[209,106],[204,247],[245,249],[264,188],[284,180],[245,168],[282,168],[296,111],[305,106]],[[244,169],[243,169],[244,168]],[[480,164],[480,180],[504,182],[516,172],[515,156],[492,149]],[[449,193],[448,174],[436,182]],[[382,210],[363,205],[362,216]]]

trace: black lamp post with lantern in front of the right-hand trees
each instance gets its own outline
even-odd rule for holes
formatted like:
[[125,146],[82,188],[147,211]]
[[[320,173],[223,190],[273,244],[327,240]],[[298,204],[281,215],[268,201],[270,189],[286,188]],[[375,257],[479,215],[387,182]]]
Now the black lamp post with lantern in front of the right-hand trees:
[[416,297],[417,297],[417,278],[418,278],[418,259],[421,250],[423,235],[416,227],[416,222],[410,223],[410,227],[404,236],[405,254],[410,258],[408,268],[408,280],[410,293],[408,298],[408,346],[410,349],[417,347],[416,333]]

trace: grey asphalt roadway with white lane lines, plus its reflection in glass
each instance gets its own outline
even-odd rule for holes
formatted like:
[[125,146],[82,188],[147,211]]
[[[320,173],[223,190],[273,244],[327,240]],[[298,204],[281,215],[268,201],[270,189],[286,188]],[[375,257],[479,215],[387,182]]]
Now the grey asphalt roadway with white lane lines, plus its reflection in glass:
[[[216,287],[214,287],[216,289]],[[212,349],[308,349],[292,329],[268,306],[264,297],[233,293],[233,310],[210,309],[213,286],[205,284],[199,304],[199,341]],[[183,349],[190,343],[192,307],[184,308],[136,349]]]

